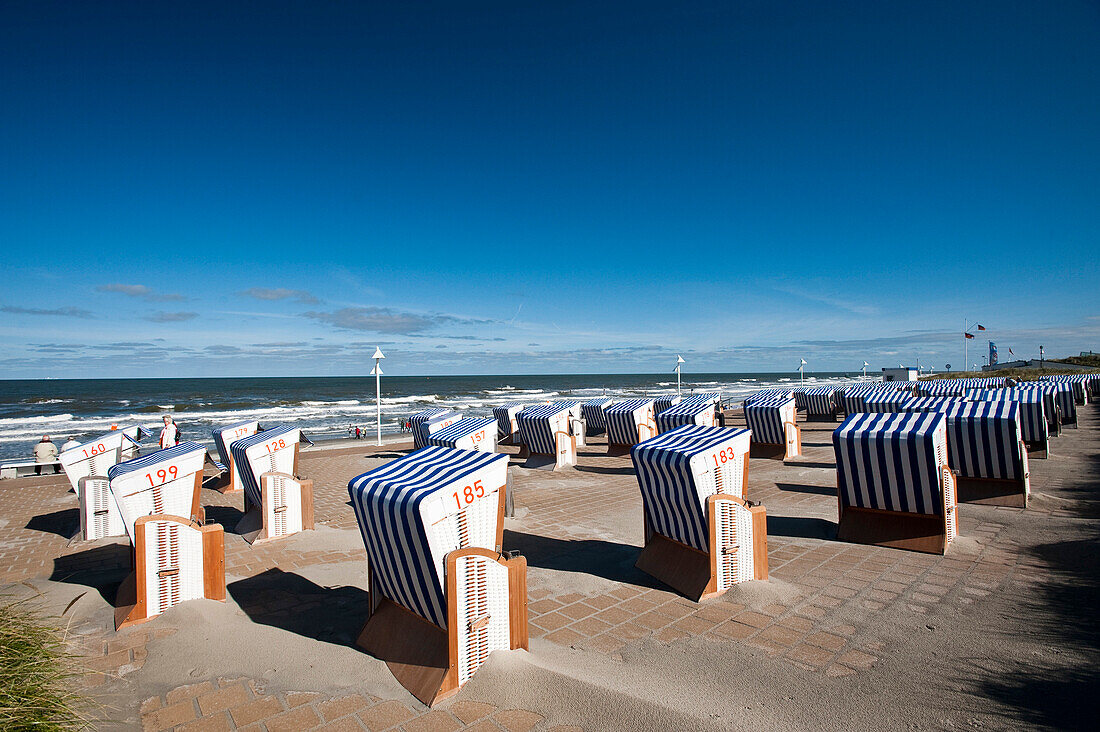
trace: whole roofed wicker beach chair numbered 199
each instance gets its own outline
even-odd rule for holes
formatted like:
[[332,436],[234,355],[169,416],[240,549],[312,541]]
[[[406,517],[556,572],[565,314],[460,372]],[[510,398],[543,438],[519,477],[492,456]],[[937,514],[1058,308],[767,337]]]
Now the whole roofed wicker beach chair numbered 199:
[[199,598],[226,600],[224,536],[204,525],[206,448],[180,443],[108,471],[133,544],[134,571],[119,587],[114,627],[141,623]]

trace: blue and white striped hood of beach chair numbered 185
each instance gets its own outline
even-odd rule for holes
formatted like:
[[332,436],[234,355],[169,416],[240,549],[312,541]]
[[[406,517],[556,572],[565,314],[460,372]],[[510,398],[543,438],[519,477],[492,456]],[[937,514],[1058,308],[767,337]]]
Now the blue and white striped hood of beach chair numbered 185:
[[[355,510],[372,578],[382,594],[447,627],[444,561],[460,546],[433,546],[430,526],[458,512],[448,488],[461,484],[508,456],[429,446],[353,478],[348,493]],[[485,487],[486,490],[503,487]],[[485,543],[471,544],[494,549]]]

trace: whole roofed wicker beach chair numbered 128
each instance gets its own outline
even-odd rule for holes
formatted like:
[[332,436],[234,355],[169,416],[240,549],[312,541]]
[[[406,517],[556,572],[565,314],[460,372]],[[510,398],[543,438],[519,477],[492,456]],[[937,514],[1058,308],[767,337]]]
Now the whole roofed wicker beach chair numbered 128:
[[298,427],[279,425],[230,445],[244,489],[244,516],[237,533],[249,544],[282,538],[314,527],[314,481],[298,477]]

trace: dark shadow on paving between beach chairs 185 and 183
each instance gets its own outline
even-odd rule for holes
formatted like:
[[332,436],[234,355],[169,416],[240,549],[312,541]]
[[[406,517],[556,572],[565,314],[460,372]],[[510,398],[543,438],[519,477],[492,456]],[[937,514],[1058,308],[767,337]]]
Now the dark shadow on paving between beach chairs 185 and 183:
[[506,549],[517,549],[530,567],[582,572],[613,582],[667,589],[634,566],[641,551],[629,544],[602,539],[558,539],[504,529]]

